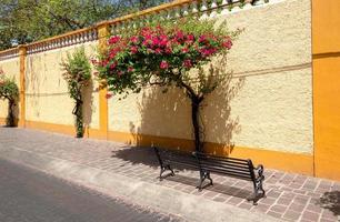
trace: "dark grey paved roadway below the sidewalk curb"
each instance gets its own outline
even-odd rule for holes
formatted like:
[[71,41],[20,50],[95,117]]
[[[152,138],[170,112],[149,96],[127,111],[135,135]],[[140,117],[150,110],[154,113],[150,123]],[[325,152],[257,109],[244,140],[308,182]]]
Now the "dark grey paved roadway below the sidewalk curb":
[[1,222],[180,221],[0,159]]

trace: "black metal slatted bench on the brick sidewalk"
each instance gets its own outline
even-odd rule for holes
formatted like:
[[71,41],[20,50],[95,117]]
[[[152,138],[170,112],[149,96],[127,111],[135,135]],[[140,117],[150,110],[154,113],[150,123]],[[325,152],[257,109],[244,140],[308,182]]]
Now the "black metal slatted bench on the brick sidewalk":
[[[223,175],[229,175],[232,178],[251,181],[253,183],[254,196],[251,199],[256,204],[259,199],[266,196],[266,191],[263,190],[263,165],[253,167],[251,160],[242,160],[234,158],[221,158],[209,155],[206,153],[193,152],[183,153],[174,151],[160,150],[153,147],[156,155],[161,167],[160,180],[164,176],[162,175],[167,170],[171,173],[168,175],[174,175],[171,168],[172,164],[180,164],[183,167],[189,167],[191,169],[197,169],[200,172],[199,185],[197,186],[200,191],[207,185],[213,185],[210,173],[218,173]],[[210,181],[209,184],[203,185],[204,180]]]

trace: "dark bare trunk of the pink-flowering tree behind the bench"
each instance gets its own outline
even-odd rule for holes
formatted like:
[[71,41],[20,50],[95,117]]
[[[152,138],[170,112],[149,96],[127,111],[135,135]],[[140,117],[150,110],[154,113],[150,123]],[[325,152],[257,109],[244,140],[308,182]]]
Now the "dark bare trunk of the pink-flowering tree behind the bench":
[[198,152],[203,151],[203,145],[201,141],[201,128],[200,128],[200,103],[201,99],[194,97],[191,98],[191,121],[193,127],[193,135],[194,135],[194,149]]

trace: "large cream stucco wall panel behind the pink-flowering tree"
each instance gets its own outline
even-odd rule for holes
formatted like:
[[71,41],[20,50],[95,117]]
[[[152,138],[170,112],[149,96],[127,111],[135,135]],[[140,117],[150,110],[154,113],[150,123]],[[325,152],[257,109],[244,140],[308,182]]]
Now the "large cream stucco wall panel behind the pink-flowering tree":
[[[216,69],[233,74],[207,98],[207,141],[312,152],[310,8],[310,0],[287,0],[220,16],[230,30],[244,31],[227,65],[216,61]],[[109,130],[191,139],[190,103],[179,90],[162,94],[156,88],[113,98]]]

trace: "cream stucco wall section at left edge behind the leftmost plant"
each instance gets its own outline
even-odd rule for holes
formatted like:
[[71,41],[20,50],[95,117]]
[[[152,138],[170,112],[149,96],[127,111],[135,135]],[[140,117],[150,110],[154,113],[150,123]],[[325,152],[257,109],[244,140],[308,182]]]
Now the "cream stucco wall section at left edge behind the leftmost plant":
[[[18,88],[20,87],[19,57],[0,61],[0,69],[4,71],[6,77],[13,78],[16,80]],[[7,114],[8,114],[8,102],[0,100],[0,118],[7,118]]]

